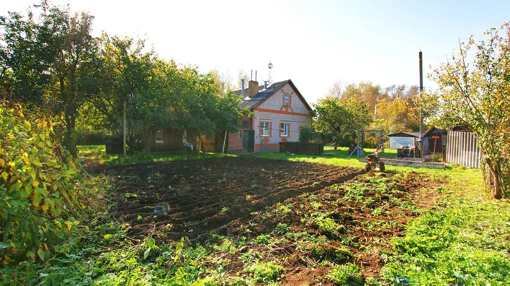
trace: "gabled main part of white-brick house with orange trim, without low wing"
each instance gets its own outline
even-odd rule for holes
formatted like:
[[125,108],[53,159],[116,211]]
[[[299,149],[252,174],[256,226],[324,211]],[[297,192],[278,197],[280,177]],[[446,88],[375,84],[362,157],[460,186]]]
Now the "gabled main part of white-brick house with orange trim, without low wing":
[[233,91],[243,97],[240,108],[253,114],[243,116],[239,132],[228,134],[228,152],[278,152],[279,142],[297,142],[302,127],[312,126],[313,111],[291,80],[259,86],[249,81],[248,89]]

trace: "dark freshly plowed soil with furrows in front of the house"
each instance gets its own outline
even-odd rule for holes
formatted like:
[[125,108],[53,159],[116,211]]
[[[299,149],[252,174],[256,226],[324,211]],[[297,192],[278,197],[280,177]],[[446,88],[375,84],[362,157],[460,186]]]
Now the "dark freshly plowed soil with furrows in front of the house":
[[199,239],[230,229],[267,206],[343,183],[362,169],[260,158],[221,158],[117,165],[114,217],[130,236]]

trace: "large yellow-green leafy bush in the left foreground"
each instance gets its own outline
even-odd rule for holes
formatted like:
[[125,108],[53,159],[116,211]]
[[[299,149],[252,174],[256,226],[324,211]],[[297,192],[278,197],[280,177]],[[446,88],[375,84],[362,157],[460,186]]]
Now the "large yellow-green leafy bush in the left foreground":
[[0,103],[0,254],[47,260],[55,243],[77,237],[85,209],[81,172],[56,141],[50,118]]

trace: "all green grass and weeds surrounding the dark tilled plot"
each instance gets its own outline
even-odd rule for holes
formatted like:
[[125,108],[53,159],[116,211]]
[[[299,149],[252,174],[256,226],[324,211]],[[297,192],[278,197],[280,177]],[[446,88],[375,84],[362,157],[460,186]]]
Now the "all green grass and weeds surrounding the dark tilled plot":
[[[84,164],[87,161],[115,165],[222,157],[214,153],[137,152],[127,154],[124,160],[122,155],[107,155],[104,146],[79,146],[79,150]],[[347,148],[333,150],[326,147],[325,151],[334,155],[256,153],[242,156],[335,166],[365,165],[354,157],[347,159]],[[381,153],[383,157],[394,155],[394,150]],[[362,245],[342,235],[343,226],[331,218],[331,213],[320,211],[328,204],[335,204],[320,198],[342,191],[345,200],[363,205],[366,212],[376,217],[376,220],[362,224],[363,227],[373,231],[395,227],[382,220],[391,211],[384,205],[369,209],[372,202],[364,195],[366,186],[381,194],[390,194],[390,197],[391,194],[398,195],[395,186],[384,177],[374,176],[368,177],[364,185],[354,182],[330,186],[320,198],[315,194],[303,195],[299,198],[303,200],[302,207],[285,202],[270,207],[261,217],[265,220],[268,216],[279,216],[279,221],[267,233],[250,237],[250,229],[256,228],[258,221],[263,221],[260,219],[253,221],[252,226],[246,226],[244,237],[212,236],[206,245],[191,244],[186,239],[171,244],[156,243],[152,239],[136,243],[126,238],[125,226],[104,219],[91,227],[90,233],[79,246],[74,246],[68,257],[54,257],[44,264],[24,262],[18,267],[0,269],[0,284],[278,284],[285,279],[286,271],[291,270],[285,268],[285,259],[291,256],[279,256],[283,257],[283,263],[278,263],[264,260],[265,253],[253,249],[246,251],[245,248],[279,249],[281,245],[292,243],[296,244],[298,253],[312,253],[303,259],[310,263],[317,259],[319,265],[327,267],[325,277],[318,277],[317,283],[325,278],[338,285],[356,285],[366,278],[367,285],[510,285],[510,202],[492,200],[483,191],[479,170],[458,166],[447,166],[445,170],[387,166],[387,170],[396,175],[423,173],[446,183],[438,188],[442,197],[430,210],[418,210],[412,203],[394,198],[393,201],[402,208],[416,211],[419,216],[404,225],[404,236],[395,237],[389,243],[381,241],[380,246],[384,244],[384,248],[377,248],[375,239],[375,245],[363,246],[364,251],[375,251],[384,257],[385,267],[379,277],[360,276],[363,266],[356,264],[358,256],[352,255],[346,247],[361,248]],[[245,199],[251,199],[249,194]],[[294,231],[287,219],[296,215],[310,229],[319,229],[324,236]],[[341,245],[330,245],[330,240]],[[232,263],[232,257],[240,259],[243,271],[228,273],[226,266]]]

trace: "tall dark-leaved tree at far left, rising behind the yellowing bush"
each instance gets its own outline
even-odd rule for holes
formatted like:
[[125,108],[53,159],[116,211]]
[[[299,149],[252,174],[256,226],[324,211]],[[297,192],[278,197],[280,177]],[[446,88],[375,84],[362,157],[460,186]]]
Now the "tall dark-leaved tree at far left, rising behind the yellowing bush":
[[[88,66],[95,54],[91,37],[93,16],[50,6],[43,1],[27,17],[0,17],[2,53],[0,83],[9,85],[14,99],[47,103],[63,115],[63,145],[75,154],[71,138],[78,109],[90,83]],[[34,18],[38,13],[39,19]],[[8,71],[8,72],[7,72]],[[4,79],[10,76],[10,79]]]

